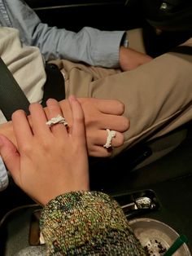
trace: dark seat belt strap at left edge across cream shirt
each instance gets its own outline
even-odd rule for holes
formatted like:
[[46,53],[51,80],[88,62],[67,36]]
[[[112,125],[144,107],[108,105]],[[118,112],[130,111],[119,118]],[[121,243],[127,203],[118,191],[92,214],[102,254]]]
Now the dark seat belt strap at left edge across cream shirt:
[[29,101],[23,90],[15,81],[7,65],[0,58],[0,109],[7,121],[11,120],[12,113],[17,109],[23,109],[29,114]]

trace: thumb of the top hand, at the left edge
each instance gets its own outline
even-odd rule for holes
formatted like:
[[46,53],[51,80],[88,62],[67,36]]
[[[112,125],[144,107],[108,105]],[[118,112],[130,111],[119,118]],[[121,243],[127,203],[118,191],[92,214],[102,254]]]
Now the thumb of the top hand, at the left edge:
[[0,135],[0,155],[13,179],[16,179],[16,172],[20,170],[20,153],[15,145],[3,135]]

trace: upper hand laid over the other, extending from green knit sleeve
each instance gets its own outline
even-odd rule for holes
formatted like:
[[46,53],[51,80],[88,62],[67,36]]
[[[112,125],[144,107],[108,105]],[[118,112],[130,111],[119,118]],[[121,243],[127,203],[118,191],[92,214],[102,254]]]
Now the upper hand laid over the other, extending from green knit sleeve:
[[0,153],[15,183],[41,205],[65,192],[89,190],[84,113],[74,97],[69,104],[70,132],[63,124],[46,125],[47,119],[62,115],[58,102],[49,99],[46,113],[40,104],[30,105],[30,124],[22,110],[13,114],[18,150],[0,136]]

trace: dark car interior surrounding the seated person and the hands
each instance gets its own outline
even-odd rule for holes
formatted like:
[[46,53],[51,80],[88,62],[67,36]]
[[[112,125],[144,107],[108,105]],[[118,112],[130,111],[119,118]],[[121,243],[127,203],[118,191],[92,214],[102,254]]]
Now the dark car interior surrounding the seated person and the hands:
[[[178,6],[172,5],[172,1],[164,1],[168,7],[164,20],[161,19],[162,12],[158,12],[162,7],[160,0],[25,2],[37,12],[42,22],[75,32],[85,26],[101,30],[142,27],[146,38],[151,38],[146,40],[146,51],[153,57],[184,42],[192,33],[190,1],[185,1],[184,7],[179,0]],[[185,15],[183,10],[186,9],[190,15]],[[184,25],[177,19],[176,13],[180,14],[181,20],[187,21]],[[157,35],[157,28],[163,29],[163,33]],[[114,196],[128,219],[155,218],[168,224],[178,234],[185,234],[192,252],[192,122],[174,130],[170,136],[173,134],[173,138],[177,139],[181,131],[185,131],[185,139],[155,161],[147,161],[153,149],[146,142],[114,158],[90,158],[90,184],[92,190]],[[166,141],[168,138],[169,135],[162,139]],[[150,200],[150,205],[138,207],[137,201],[143,198]],[[0,255],[11,256],[28,245],[40,245],[37,222],[41,207],[25,195],[11,177],[8,188],[0,192],[0,200]]]

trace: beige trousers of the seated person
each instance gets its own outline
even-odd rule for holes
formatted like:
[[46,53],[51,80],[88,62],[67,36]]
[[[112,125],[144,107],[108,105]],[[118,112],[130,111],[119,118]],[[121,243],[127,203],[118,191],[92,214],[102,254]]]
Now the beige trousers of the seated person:
[[[143,51],[140,30],[129,33],[129,42],[129,46]],[[185,45],[192,46],[192,38]],[[151,141],[151,145],[155,139],[158,158],[159,152],[164,155],[183,139],[183,133],[177,133],[162,143],[162,136],[192,119],[192,55],[170,52],[128,72],[68,60],[57,64],[64,73],[67,97],[73,94],[124,103],[130,128],[124,133],[124,145],[116,148],[114,155],[142,139]]]

